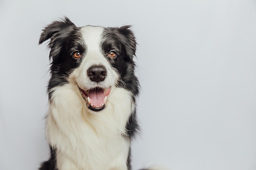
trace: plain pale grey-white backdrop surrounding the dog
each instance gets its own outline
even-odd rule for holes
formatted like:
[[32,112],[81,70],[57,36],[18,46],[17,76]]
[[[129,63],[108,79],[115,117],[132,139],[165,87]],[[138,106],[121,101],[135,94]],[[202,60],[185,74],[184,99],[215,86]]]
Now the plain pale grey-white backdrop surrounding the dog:
[[132,24],[141,82],[133,170],[256,170],[255,0],[0,0],[0,170],[36,170],[49,79],[41,30]]

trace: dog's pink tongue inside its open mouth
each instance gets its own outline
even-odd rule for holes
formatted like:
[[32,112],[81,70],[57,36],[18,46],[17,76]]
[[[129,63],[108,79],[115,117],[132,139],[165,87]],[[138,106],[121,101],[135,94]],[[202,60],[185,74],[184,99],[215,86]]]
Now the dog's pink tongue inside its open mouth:
[[100,106],[104,103],[105,95],[103,89],[96,88],[88,92],[88,97],[92,105]]

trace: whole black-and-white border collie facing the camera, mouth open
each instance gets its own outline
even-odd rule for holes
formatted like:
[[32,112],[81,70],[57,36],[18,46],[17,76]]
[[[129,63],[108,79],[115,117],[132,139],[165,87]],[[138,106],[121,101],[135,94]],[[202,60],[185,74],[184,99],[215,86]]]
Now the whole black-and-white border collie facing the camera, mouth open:
[[139,129],[130,26],[76,27],[63,18],[43,29],[39,44],[47,40],[51,157],[40,170],[130,170],[130,144]]

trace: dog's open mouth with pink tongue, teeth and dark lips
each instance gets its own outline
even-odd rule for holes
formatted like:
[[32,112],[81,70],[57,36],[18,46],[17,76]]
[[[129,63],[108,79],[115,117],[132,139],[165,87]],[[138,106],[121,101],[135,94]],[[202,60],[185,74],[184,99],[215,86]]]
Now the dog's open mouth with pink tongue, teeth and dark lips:
[[103,88],[92,88],[90,90],[83,90],[82,88],[78,87],[82,97],[86,101],[86,105],[90,110],[99,112],[106,107],[106,102],[108,99],[108,95],[111,91],[109,89]]

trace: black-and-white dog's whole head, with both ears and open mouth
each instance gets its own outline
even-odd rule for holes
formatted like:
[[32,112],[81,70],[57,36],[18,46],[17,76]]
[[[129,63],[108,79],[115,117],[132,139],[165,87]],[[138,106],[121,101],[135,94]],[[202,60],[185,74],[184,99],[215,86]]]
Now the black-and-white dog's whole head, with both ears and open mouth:
[[49,99],[56,86],[67,83],[77,86],[92,111],[106,107],[114,86],[126,88],[136,97],[139,86],[133,62],[136,42],[129,28],[76,27],[68,18],[45,27],[39,44],[50,39]]

